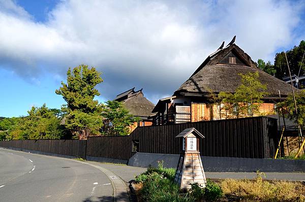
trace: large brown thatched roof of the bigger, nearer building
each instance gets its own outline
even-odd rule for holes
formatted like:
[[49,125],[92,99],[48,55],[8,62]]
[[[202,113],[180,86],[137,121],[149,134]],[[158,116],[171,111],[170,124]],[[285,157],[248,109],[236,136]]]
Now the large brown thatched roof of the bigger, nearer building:
[[[236,64],[229,63],[228,57],[236,57]],[[174,95],[185,93],[206,94],[210,91],[219,93],[235,92],[241,83],[239,73],[259,73],[259,80],[267,85],[268,96],[287,96],[291,93],[291,86],[257,68],[251,57],[238,46],[232,44],[209,55],[193,75],[178,88]]]

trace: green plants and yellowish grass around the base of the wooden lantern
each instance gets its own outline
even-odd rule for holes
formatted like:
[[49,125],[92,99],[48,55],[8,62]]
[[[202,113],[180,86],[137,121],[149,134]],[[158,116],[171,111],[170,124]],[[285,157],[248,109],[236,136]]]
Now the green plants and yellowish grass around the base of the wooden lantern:
[[145,173],[135,177],[139,201],[305,201],[305,185],[300,182],[263,180],[264,173],[257,172],[254,180],[225,179],[206,187],[191,184],[188,192],[181,192],[174,182],[175,169],[148,167]]

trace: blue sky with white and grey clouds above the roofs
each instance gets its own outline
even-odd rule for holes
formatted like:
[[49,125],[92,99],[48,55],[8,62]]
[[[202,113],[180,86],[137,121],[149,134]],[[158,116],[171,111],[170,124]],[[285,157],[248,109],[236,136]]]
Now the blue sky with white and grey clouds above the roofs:
[[253,60],[305,40],[305,1],[0,0],[0,116],[60,108],[70,67],[103,72],[100,102],[144,88],[171,95],[205,57],[236,35]]

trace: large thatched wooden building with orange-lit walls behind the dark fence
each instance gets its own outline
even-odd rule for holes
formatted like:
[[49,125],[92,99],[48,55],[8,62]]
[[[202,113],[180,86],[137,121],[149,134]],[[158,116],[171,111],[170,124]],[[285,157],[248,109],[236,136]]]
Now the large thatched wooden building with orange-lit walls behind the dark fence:
[[275,103],[291,93],[291,86],[257,68],[251,57],[234,42],[210,54],[191,77],[171,97],[162,98],[152,111],[154,124],[172,124],[223,119],[221,105],[211,99],[211,92],[234,93],[241,84],[238,74],[259,73],[259,80],[267,85],[268,96],[263,98],[259,114],[275,113]]

